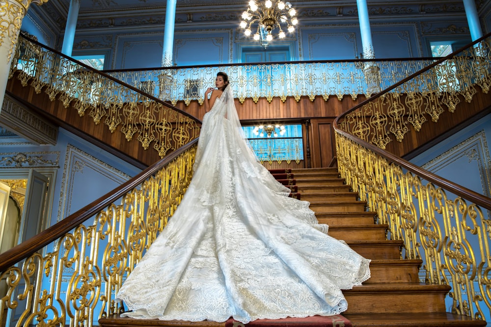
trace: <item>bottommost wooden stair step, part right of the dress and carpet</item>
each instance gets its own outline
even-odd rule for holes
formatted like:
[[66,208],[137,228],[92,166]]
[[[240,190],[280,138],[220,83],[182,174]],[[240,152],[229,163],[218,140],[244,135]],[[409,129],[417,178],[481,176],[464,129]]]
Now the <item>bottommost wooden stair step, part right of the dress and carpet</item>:
[[347,313],[353,327],[483,327],[486,322],[450,312]]

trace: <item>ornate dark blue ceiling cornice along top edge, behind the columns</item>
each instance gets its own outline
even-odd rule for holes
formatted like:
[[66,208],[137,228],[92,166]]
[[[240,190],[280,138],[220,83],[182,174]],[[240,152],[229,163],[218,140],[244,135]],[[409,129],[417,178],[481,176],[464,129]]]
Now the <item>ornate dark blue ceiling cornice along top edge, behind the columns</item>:
[[[164,25],[164,0],[80,0],[77,29]],[[477,0],[479,8],[487,0]],[[176,28],[199,24],[238,24],[248,0],[177,0]],[[290,1],[302,20],[352,17],[357,19],[356,0]],[[424,15],[463,12],[462,0],[367,0],[372,17],[382,15]],[[60,32],[64,30],[70,0],[49,0],[34,10]],[[32,6],[31,6],[32,8]],[[29,9],[30,10],[30,9]]]

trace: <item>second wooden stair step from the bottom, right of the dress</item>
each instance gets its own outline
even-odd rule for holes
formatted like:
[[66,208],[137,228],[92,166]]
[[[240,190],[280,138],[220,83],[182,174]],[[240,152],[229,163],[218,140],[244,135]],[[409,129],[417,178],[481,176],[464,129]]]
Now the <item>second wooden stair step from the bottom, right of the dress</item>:
[[448,285],[374,283],[343,290],[345,313],[445,312]]

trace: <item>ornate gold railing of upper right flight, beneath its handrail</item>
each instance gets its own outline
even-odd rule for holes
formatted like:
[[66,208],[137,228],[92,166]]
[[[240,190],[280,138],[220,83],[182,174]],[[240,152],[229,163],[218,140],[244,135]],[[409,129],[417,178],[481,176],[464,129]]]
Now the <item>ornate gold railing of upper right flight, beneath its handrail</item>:
[[419,131],[428,120],[437,122],[461,101],[471,102],[476,87],[488,93],[491,86],[491,37],[450,54],[407,80],[402,80],[366,101],[340,121],[341,129],[381,149],[392,140],[401,142],[410,126]]

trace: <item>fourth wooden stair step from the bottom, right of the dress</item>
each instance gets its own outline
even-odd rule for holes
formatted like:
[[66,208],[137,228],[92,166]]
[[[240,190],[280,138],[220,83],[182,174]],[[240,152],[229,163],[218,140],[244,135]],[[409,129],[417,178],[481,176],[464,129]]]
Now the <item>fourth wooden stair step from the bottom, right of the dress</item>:
[[372,260],[400,259],[403,245],[401,240],[346,241],[346,243],[361,256]]

